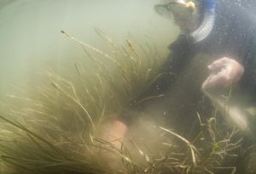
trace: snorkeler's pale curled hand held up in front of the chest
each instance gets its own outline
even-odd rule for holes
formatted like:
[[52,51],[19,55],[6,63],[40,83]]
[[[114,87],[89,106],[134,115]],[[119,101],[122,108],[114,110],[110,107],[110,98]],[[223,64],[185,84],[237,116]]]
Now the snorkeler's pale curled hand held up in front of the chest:
[[202,88],[228,87],[231,83],[239,81],[243,75],[244,68],[234,59],[221,58],[208,65],[210,76],[203,82]]

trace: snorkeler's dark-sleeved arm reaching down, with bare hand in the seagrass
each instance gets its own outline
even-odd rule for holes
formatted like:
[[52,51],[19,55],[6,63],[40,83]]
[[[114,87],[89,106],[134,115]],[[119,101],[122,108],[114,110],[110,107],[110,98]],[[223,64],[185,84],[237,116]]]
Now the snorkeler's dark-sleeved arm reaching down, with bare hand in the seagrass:
[[143,109],[143,103],[140,103],[140,101],[142,101],[143,98],[161,95],[172,87],[173,83],[176,81],[176,77],[183,70],[184,66],[189,61],[189,57],[193,54],[191,52],[191,43],[188,42],[184,35],[178,36],[177,41],[173,42],[169,48],[171,53],[164,65],[160,68],[160,73],[163,74],[163,76],[160,76],[151,87],[148,87],[146,91],[143,91],[143,93],[131,101],[129,106],[123,109],[117,119],[111,124],[108,141],[111,141],[116,148],[120,148],[121,141],[124,139],[128,127],[137,117],[140,110]]

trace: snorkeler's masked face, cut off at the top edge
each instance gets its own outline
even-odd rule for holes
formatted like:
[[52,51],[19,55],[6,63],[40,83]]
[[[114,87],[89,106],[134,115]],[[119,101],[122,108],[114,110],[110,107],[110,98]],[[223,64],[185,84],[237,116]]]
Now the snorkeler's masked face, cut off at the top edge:
[[195,31],[203,15],[200,0],[160,0],[156,12],[172,19],[184,33]]

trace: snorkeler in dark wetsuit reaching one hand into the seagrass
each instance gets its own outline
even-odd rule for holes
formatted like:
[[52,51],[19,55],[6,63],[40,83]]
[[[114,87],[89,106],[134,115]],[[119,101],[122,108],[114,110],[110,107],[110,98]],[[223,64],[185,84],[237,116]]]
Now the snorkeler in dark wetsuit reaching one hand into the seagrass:
[[[238,84],[242,93],[249,96],[249,103],[255,102],[256,15],[253,1],[161,0],[154,9],[161,16],[171,19],[181,31],[177,40],[169,46],[171,53],[160,69],[161,74],[170,76],[160,78],[119,113],[109,131],[112,140],[123,138],[137,115],[146,112],[157,117],[162,115],[175,129],[191,126],[194,117],[188,117],[196,115],[203,93],[216,99],[207,93],[214,87],[226,88]],[[211,58],[208,66],[196,58],[199,54]],[[197,74],[190,75],[186,68],[193,61],[199,62],[199,65],[195,70]],[[209,76],[205,76],[204,70],[207,69]],[[181,78],[191,82],[191,86],[177,92],[175,86]],[[177,98],[183,98],[186,91],[192,99],[178,102]],[[150,96],[162,97],[143,99]],[[188,104],[194,109],[187,109]],[[183,111],[178,112],[179,108]],[[247,126],[245,124],[243,126]],[[114,145],[119,148],[120,143]]]

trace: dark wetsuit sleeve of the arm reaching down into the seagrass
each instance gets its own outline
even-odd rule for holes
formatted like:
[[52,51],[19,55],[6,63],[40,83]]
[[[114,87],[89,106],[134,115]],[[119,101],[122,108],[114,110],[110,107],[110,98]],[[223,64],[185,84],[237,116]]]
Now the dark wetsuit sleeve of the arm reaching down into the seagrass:
[[147,107],[148,99],[164,97],[164,93],[173,86],[177,76],[189,62],[192,54],[191,46],[186,36],[180,35],[177,37],[177,41],[169,46],[170,54],[159,71],[161,76],[146,91],[143,91],[136,99],[131,101],[129,106],[121,110],[118,117],[119,121],[130,125],[137,118],[137,115]]

